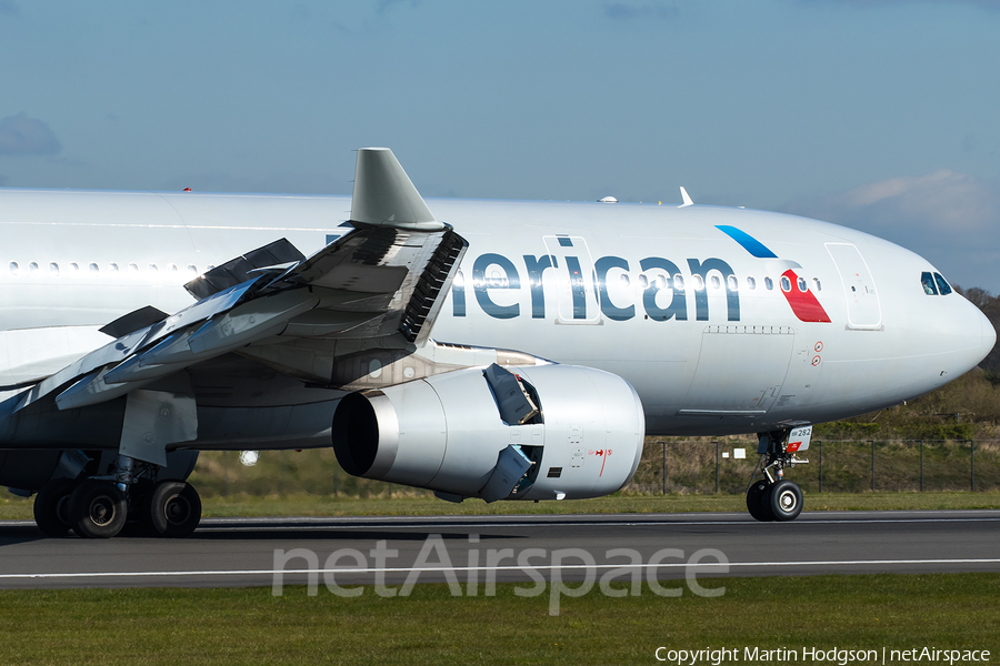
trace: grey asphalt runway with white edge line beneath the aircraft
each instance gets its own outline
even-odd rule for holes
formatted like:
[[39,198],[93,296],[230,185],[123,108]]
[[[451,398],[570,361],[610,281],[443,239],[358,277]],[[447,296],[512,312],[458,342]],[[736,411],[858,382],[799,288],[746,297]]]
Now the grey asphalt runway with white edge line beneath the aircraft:
[[1000,572],[1000,511],[207,518],[184,539],[110,541],[0,522],[0,588],[572,581],[626,565],[657,579]]

